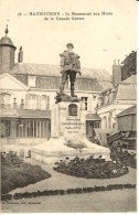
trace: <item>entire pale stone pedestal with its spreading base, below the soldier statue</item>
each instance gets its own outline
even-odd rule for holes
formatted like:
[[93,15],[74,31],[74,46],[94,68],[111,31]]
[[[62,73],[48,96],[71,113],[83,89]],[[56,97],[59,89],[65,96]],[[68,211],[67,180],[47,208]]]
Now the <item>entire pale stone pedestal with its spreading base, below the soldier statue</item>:
[[[76,150],[66,146],[66,140],[73,139],[73,142],[84,142],[85,148]],[[51,111],[51,139],[40,146],[32,148],[32,159],[44,163],[54,163],[65,157],[74,158],[89,157],[109,160],[110,150],[97,146],[86,139],[85,110],[82,109],[82,103],[61,101],[52,107]]]

